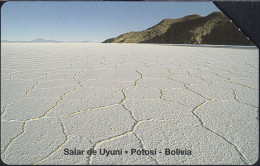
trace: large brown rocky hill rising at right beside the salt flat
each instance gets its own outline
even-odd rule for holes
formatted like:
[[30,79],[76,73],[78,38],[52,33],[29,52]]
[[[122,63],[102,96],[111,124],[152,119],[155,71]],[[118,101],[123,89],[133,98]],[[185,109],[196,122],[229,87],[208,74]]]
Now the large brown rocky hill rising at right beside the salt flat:
[[221,12],[164,19],[146,30],[125,33],[103,43],[254,45]]

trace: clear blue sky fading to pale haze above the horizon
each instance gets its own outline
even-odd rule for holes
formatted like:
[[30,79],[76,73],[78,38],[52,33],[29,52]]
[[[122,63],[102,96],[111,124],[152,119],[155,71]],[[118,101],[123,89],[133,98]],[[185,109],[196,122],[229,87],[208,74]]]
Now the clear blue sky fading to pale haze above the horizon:
[[219,11],[211,2],[6,2],[1,40],[94,41],[147,29],[165,18]]

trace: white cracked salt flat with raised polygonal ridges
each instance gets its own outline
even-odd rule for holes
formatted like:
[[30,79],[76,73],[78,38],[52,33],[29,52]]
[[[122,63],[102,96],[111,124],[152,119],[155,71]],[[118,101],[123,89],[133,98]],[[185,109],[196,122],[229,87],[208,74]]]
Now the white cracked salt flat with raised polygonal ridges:
[[[256,48],[2,43],[1,159],[254,164],[258,70]],[[75,148],[123,154],[64,154]],[[167,148],[192,153],[165,155]],[[124,153],[131,149],[157,154]]]

